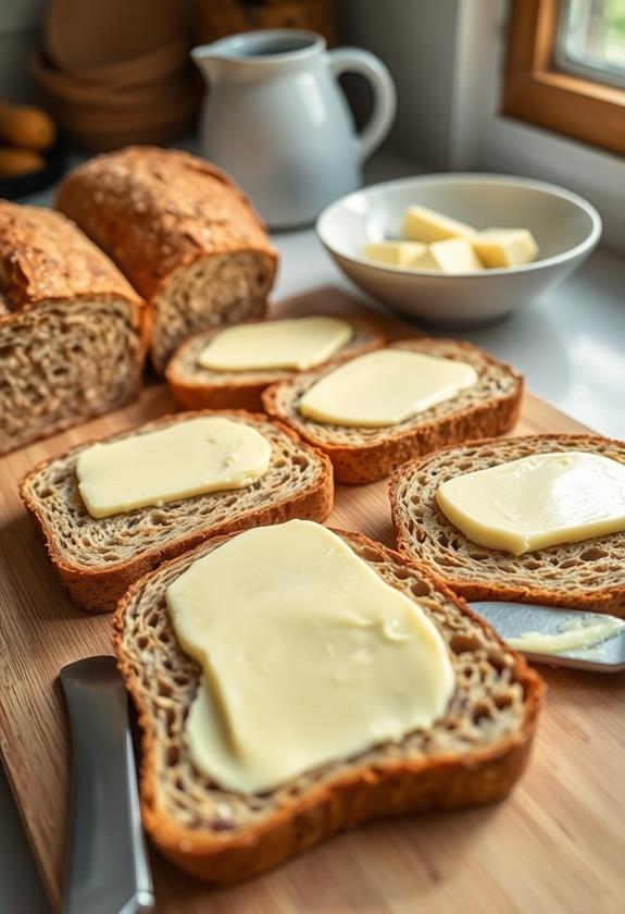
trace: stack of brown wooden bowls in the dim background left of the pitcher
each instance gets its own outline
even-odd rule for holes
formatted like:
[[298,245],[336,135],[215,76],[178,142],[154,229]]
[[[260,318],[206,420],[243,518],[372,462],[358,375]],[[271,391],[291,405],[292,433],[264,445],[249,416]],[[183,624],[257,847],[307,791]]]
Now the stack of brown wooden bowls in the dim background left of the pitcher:
[[76,145],[164,144],[189,126],[201,86],[185,9],[180,0],[52,0],[33,69]]

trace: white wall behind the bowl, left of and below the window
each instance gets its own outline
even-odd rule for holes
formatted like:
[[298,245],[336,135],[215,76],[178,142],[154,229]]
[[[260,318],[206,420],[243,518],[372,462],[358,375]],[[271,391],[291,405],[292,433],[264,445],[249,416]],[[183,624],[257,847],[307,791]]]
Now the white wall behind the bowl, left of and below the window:
[[433,171],[496,171],[590,200],[625,250],[625,160],[499,114],[508,0],[338,0],[339,36],[377,53],[398,86],[389,143]]

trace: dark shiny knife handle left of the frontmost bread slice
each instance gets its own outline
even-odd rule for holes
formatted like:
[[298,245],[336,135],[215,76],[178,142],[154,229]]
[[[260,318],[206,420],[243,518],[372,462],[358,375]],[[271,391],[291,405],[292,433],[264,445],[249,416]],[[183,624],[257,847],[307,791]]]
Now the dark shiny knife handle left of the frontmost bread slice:
[[115,660],[78,660],[60,679],[74,769],[63,914],[151,911],[128,702]]

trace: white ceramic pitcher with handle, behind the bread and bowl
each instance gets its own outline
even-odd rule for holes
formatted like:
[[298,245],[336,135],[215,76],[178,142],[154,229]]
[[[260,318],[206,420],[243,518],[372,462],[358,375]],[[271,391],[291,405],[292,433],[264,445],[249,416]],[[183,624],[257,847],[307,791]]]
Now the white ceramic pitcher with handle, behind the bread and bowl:
[[[305,225],[361,185],[387,135],[396,94],[386,66],[358,48],[326,50],[314,32],[279,28],[193,48],[209,83],[202,151],[247,190],[274,228]],[[337,77],[365,76],[374,108],[361,134]]]

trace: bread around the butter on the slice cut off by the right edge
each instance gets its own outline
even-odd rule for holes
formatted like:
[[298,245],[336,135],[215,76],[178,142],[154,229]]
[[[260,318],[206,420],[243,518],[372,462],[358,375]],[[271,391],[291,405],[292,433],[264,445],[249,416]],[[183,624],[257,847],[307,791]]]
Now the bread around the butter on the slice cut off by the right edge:
[[401,467],[390,483],[402,553],[467,600],[510,600],[625,617],[625,532],[514,556],[478,546],[436,502],[448,479],[560,450],[602,454],[625,464],[625,442],[593,435],[536,435],[470,442]]

